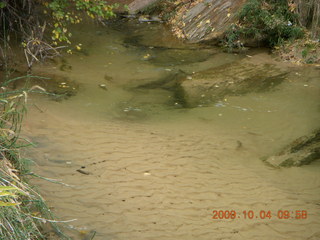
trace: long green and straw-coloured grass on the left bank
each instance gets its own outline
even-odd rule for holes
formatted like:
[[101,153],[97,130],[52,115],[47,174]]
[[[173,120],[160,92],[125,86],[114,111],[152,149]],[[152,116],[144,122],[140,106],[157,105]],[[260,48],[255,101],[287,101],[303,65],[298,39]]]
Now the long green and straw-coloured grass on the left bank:
[[52,226],[43,198],[27,183],[31,160],[21,157],[21,149],[32,145],[20,131],[28,93],[35,89],[8,91],[15,80],[2,81],[0,90],[0,240],[48,239],[59,229]]

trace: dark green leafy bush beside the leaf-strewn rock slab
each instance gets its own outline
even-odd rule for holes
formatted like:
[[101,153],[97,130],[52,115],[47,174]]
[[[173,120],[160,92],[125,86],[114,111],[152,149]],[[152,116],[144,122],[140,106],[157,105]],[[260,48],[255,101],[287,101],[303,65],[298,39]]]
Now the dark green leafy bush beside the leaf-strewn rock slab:
[[273,47],[304,35],[298,16],[289,8],[287,0],[249,0],[238,18],[226,34],[229,48],[243,46],[242,41],[246,39]]

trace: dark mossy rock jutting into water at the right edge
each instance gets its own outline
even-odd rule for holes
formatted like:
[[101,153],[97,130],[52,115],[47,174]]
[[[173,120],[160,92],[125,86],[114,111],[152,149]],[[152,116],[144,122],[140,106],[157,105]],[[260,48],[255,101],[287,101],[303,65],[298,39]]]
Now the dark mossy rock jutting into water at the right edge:
[[320,159],[320,129],[300,137],[275,156],[263,161],[274,167],[292,167],[310,164]]

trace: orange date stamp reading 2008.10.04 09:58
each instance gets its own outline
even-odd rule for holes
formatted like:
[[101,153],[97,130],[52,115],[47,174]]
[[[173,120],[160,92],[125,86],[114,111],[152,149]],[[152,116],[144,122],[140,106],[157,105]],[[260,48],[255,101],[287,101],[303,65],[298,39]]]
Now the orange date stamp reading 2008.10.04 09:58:
[[212,219],[307,219],[307,210],[278,210],[272,212],[270,210],[244,210],[237,212],[235,210],[214,210]]

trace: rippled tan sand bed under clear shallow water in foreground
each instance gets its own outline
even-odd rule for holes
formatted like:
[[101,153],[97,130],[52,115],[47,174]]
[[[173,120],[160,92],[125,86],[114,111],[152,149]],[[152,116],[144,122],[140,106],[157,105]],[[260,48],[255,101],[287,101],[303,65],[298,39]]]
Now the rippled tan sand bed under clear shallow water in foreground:
[[[71,225],[95,230],[95,239],[320,239],[319,178],[297,183],[296,191],[275,183],[271,176],[282,170],[247,166],[248,158],[260,160],[238,149],[234,138],[41,117],[45,123],[27,128],[39,142],[35,171],[72,187],[37,184],[58,216],[77,218]],[[235,210],[240,218],[212,219],[213,210]],[[244,219],[249,210],[270,210],[273,217]],[[281,220],[278,210],[309,215]]]

